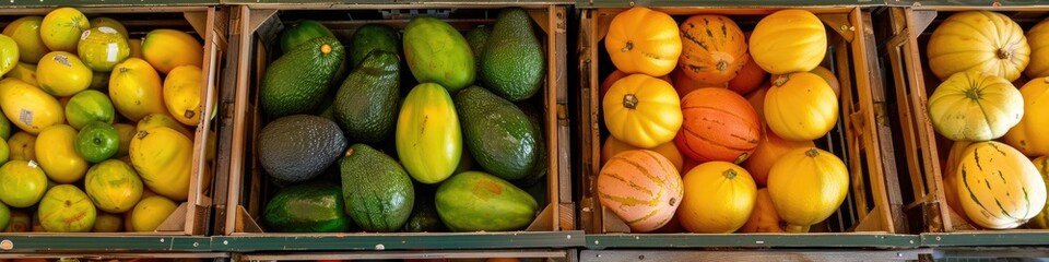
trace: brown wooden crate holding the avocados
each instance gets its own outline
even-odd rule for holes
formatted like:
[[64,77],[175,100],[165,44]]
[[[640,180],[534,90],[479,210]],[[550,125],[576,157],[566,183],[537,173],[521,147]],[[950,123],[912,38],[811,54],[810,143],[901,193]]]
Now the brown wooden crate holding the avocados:
[[[318,20],[337,36],[345,38],[351,33],[367,23],[384,23],[394,28],[403,28],[409,20],[416,14],[436,15],[444,17],[449,24],[460,31],[472,28],[480,24],[493,24],[497,11],[506,7],[521,7],[528,10],[533,21],[540,25],[538,32],[542,34],[540,41],[546,48],[547,75],[541,93],[537,95],[542,100],[545,127],[544,138],[547,143],[549,172],[546,178],[547,203],[541,214],[529,226],[530,231],[562,231],[575,227],[574,206],[571,203],[570,177],[568,176],[568,127],[565,109],[565,32],[566,8],[557,4],[526,4],[499,3],[478,4],[468,3],[426,3],[426,4],[254,4],[238,5],[232,14],[233,31],[231,53],[236,56],[231,67],[236,67],[225,79],[229,86],[236,86],[232,100],[236,102],[233,109],[231,132],[222,133],[222,138],[231,138],[229,165],[220,167],[221,174],[228,172],[227,178],[216,180],[216,187],[228,187],[225,195],[216,196],[217,223],[215,231],[227,236],[268,236],[259,227],[257,218],[260,215],[264,201],[269,199],[266,190],[269,178],[255,158],[255,144],[261,122],[258,107],[258,83],[262,78],[267,64],[276,59],[274,52],[275,40],[280,31],[290,17],[308,17]],[[463,13],[458,15],[457,13]],[[351,14],[351,15],[347,15]],[[479,16],[480,15],[480,16]],[[370,17],[352,20],[349,17]],[[450,19],[448,16],[451,16]],[[288,21],[283,21],[288,20]],[[406,69],[405,69],[406,70]],[[405,72],[406,73],[406,72]],[[225,151],[220,151],[225,152]],[[227,180],[226,180],[227,179]],[[222,186],[226,184],[226,186]],[[544,203],[540,203],[543,206]],[[286,235],[286,234],[285,234]],[[346,234],[308,234],[309,236],[345,236]],[[398,236],[404,236],[400,234]],[[413,234],[406,234],[411,236]],[[352,234],[350,236],[353,236]],[[376,236],[376,234],[369,234]]]

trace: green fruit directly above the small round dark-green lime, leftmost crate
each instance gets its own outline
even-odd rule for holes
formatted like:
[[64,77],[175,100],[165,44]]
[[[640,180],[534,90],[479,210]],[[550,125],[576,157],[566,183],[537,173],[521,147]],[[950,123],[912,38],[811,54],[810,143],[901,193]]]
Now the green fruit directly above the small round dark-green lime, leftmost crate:
[[115,118],[116,109],[109,96],[96,90],[81,91],[66,104],[66,120],[76,130],[92,121],[113,123]]

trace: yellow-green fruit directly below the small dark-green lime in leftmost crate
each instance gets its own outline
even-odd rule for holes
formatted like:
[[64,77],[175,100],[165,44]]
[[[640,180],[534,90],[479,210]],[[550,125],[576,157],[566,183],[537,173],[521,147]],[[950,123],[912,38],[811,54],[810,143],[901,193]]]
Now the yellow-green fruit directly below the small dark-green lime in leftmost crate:
[[119,159],[108,159],[87,169],[84,189],[99,210],[123,213],[133,209],[142,198],[143,183],[130,165]]

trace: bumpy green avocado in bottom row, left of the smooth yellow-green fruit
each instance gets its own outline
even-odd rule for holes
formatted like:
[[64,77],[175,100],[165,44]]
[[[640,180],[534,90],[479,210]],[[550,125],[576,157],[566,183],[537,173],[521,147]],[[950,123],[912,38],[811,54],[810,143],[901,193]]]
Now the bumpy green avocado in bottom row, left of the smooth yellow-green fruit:
[[345,213],[366,231],[396,231],[412,214],[415,189],[401,164],[366,144],[339,160]]

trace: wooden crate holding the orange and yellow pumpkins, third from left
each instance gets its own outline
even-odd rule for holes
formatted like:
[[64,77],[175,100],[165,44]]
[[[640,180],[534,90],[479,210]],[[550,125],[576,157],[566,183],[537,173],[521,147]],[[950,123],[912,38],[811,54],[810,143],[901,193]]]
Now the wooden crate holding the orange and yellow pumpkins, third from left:
[[[694,14],[723,14],[741,28],[753,28],[761,17],[783,8],[652,8],[683,21]],[[841,83],[840,118],[834,130],[816,140],[817,147],[840,157],[848,166],[850,190],[839,211],[827,219],[822,230],[813,233],[907,233],[901,215],[899,187],[896,182],[897,157],[892,144],[892,130],[886,123],[884,91],[874,49],[871,15],[860,7],[806,7],[827,25],[828,52],[823,66],[832,69]],[[580,22],[580,150],[581,199],[580,225],[589,234],[629,233],[629,228],[597,199],[597,176],[601,169],[601,142],[608,136],[600,123],[600,81],[614,67],[605,61],[602,38],[612,19],[623,8],[585,10]],[[604,59],[604,60],[602,60]],[[886,146],[887,145],[887,146]],[[727,238],[738,235],[726,235]],[[588,241],[588,245],[593,245]],[[700,245],[702,246],[702,245]]]

